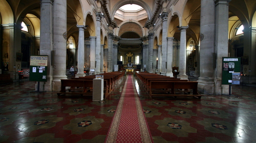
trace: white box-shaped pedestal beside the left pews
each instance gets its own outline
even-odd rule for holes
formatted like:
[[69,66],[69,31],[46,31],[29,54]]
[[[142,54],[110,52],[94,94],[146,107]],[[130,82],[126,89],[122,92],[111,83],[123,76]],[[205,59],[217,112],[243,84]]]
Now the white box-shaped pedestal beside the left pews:
[[93,101],[103,100],[104,79],[93,79]]

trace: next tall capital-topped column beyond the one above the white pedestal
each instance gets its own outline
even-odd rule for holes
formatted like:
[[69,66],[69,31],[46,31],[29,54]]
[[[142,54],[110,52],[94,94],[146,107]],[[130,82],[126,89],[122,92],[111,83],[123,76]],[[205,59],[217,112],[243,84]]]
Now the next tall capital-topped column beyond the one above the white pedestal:
[[108,72],[112,72],[112,47],[113,47],[113,32],[108,33]]

